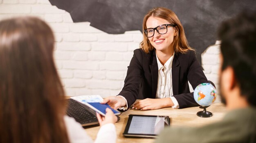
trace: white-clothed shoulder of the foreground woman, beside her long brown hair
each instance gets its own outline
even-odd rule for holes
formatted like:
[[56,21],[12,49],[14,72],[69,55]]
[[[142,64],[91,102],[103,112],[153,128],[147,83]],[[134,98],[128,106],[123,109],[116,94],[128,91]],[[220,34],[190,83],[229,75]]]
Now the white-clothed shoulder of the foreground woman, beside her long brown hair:
[[91,137],[74,118],[64,116],[64,121],[70,143],[93,143]]

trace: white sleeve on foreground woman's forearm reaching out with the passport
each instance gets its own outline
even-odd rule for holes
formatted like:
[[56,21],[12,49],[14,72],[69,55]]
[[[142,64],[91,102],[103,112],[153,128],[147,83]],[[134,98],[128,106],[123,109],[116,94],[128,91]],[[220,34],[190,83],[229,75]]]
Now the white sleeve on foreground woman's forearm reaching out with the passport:
[[117,133],[114,124],[101,126],[94,143],[116,143]]

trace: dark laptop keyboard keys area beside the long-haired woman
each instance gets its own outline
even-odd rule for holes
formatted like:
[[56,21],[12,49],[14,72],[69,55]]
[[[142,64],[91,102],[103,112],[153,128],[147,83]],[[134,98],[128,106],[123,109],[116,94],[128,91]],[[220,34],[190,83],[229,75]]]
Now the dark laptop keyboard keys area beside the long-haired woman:
[[90,113],[90,111],[88,111],[73,99],[67,99],[66,113],[68,116],[73,117],[82,125],[98,122],[98,119],[95,115]]

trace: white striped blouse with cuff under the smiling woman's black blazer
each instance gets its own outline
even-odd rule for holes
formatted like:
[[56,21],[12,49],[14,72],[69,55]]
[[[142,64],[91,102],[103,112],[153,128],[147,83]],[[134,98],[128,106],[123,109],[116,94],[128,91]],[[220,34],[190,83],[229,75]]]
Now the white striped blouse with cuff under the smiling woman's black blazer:
[[[156,54],[156,53],[155,53]],[[157,54],[156,54],[157,57]],[[179,104],[175,97],[173,97],[173,82],[172,82],[172,66],[173,55],[166,61],[164,65],[159,61],[157,57],[158,66],[158,82],[157,82],[157,94],[156,98],[171,98],[174,106],[173,108],[179,108]]]

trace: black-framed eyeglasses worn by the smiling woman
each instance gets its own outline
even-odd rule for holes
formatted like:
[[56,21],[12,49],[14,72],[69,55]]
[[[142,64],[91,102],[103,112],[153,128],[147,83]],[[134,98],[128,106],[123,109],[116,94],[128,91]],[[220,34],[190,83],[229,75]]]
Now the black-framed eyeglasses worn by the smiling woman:
[[176,25],[175,24],[163,24],[163,25],[159,25],[155,28],[148,28],[148,29],[145,29],[143,30],[146,37],[150,38],[150,37],[153,37],[154,34],[155,34],[155,30],[157,30],[157,32],[159,34],[165,34],[167,33],[167,26],[173,26],[175,27]]

